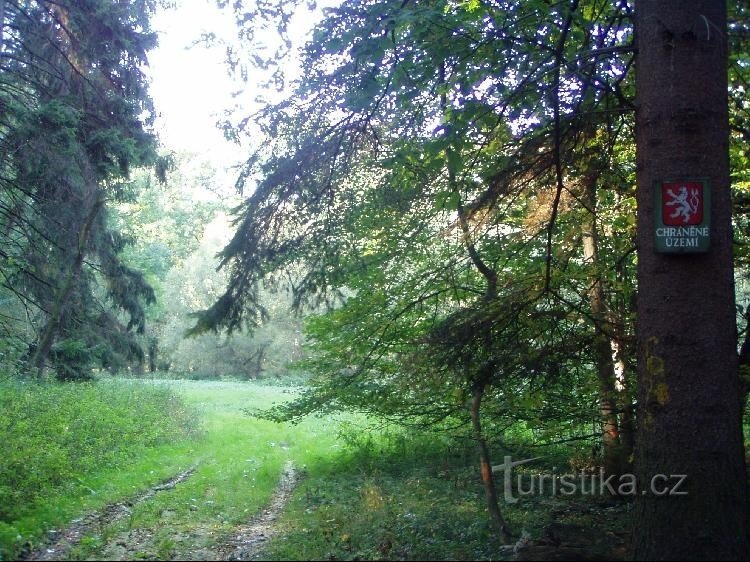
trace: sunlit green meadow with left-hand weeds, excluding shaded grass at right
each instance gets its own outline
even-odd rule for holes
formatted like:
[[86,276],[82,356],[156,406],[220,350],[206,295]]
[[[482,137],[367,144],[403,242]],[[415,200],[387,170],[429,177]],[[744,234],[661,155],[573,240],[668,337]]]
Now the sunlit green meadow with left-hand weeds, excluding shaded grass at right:
[[[39,544],[48,529],[191,466],[191,478],[134,506],[120,525],[157,527],[162,558],[169,554],[164,545],[186,529],[200,528],[197,542],[210,543],[268,500],[287,459],[305,466],[340,447],[336,422],[291,426],[244,412],[284,400],[289,392],[239,382],[3,383],[2,557]],[[164,514],[174,524],[165,525]],[[119,530],[89,537],[75,556],[93,555]]]

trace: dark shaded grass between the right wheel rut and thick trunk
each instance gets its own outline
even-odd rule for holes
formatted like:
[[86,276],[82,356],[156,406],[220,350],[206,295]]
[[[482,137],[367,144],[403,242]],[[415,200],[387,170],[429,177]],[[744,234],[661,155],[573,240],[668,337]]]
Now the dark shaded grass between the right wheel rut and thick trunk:
[[[312,467],[280,521],[282,533],[270,542],[263,559],[510,556],[498,548],[491,529],[471,440],[398,429],[366,433],[361,426],[352,427],[349,435],[345,450]],[[557,453],[554,448],[551,452]],[[495,455],[500,459],[502,451]],[[613,508],[607,498],[580,496],[527,497],[502,505],[516,537],[533,538],[553,521],[617,528],[624,525],[625,508],[624,503]],[[603,557],[611,555],[606,550]]]

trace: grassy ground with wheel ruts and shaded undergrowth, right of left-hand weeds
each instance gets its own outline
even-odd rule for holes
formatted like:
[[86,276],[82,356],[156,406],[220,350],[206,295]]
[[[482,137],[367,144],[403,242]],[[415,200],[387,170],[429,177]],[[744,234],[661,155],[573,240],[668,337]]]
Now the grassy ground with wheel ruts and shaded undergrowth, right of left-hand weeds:
[[[165,449],[150,480],[133,474],[132,491],[58,526],[24,560],[627,557],[626,501],[526,497],[504,506],[517,542],[500,546],[470,443],[371,433],[345,416],[276,424],[247,409],[288,399],[289,389],[170,384],[199,410],[202,436]],[[180,468],[169,476],[167,466]]]

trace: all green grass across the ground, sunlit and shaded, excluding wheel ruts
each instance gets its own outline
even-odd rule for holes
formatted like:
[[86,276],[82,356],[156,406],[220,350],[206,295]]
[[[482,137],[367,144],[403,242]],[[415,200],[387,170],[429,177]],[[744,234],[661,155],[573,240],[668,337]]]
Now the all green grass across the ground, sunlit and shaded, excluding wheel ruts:
[[[211,559],[267,504],[289,460],[302,480],[263,559],[507,557],[493,539],[469,439],[351,415],[296,425],[254,418],[246,410],[296,390],[252,382],[13,383],[0,392],[3,559],[190,467],[191,477],[136,503],[66,556]],[[606,513],[604,532],[614,536],[627,506],[589,501],[576,510],[569,498],[538,497],[503,509],[519,535],[538,536],[553,519],[600,525]]]

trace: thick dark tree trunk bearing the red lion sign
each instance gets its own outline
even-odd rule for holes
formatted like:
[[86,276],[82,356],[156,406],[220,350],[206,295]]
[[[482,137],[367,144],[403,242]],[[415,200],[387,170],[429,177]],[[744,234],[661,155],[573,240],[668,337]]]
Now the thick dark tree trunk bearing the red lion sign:
[[[636,7],[638,560],[750,558],[729,192],[726,11],[721,0]],[[654,190],[703,178],[710,249],[659,254]],[[679,492],[657,495],[684,474]],[[660,476],[665,475],[665,476]],[[667,478],[665,480],[665,478]]]

